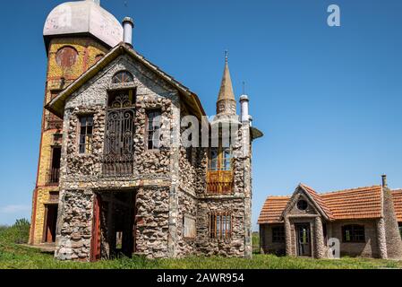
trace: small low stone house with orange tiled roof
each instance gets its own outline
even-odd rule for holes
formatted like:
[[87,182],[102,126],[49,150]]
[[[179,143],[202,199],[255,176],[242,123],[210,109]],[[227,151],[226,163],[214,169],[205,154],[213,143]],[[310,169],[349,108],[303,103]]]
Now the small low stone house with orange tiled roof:
[[385,176],[382,186],[323,194],[300,184],[292,196],[269,196],[258,223],[263,253],[327,258],[338,248],[340,256],[402,259],[402,190],[390,190]]

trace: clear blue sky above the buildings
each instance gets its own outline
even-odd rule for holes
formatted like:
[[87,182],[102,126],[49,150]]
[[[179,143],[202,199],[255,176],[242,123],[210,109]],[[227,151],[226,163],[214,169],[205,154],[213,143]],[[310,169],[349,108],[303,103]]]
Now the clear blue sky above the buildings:
[[[0,223],[30,218],[47,57],[47,13],[64,1],[1,4]],[[136,22],[134,46],[215,113],[224,50],[254,126],[253,224],[268,195],[402,187],[402,1],[102,0]],[[341,27],[329,28],[338,4]]]

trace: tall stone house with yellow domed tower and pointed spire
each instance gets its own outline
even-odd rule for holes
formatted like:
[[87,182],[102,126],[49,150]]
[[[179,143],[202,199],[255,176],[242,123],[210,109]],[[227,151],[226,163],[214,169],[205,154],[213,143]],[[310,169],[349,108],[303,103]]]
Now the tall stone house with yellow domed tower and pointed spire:
[[56,242],[63,260],[251,257],[252,140],[262,134],[248,97],[237,116],[226,59],[209,122],[194,92],[134,50],[132,30],[98,1],[61,4],[47,18],[30,243]]

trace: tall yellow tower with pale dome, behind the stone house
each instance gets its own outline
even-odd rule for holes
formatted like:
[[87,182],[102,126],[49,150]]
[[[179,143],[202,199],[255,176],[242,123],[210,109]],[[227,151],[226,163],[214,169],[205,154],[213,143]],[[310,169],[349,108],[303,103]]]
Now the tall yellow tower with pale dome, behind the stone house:
[[[67,2],[48,14],[44,106],[123,40],[123,28],[99,0]],[[38,173],[32,199],[30,244],[56,239],[63,120],[43,110]]]

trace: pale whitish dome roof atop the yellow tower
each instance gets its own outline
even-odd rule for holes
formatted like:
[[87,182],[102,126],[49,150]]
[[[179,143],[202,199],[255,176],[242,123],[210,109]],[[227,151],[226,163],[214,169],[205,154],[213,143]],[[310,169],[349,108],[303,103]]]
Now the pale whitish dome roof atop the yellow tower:
[[103,9],[99,0],[66,2],[56,6],[47,16],[43,36],[48,40],[54,36],[90,34],[109,47],[123,40],[123,27],[115,16]]

